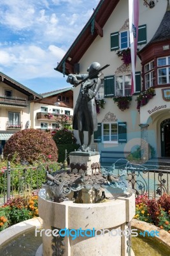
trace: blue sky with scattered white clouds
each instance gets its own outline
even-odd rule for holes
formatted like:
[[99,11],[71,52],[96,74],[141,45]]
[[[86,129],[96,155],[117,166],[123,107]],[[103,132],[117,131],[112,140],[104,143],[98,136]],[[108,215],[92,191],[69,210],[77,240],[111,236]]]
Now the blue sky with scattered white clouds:
[[54,70],[99,0],[0,1],[0,72],[36,93],[67,88]]

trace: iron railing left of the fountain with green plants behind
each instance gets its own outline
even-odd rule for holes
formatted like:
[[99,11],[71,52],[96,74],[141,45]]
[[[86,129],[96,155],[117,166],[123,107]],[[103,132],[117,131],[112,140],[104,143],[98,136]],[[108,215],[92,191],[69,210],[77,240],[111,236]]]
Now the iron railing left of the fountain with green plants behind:
[[0,205],[5,204],[11,196],[24,195],[41,188],[50,168],[56,171],[62,168],[62,164],[39,163],[37,166],[11,168],[8,162],[8,166],[0,170]]

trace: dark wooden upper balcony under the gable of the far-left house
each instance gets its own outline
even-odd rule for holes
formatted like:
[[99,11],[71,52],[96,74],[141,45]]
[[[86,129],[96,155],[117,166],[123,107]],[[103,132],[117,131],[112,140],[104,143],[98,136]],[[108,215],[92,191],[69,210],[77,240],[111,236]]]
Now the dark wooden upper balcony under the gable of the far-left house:
[[0,96],[0,104],[14,105],[14,106],[27,106],[27,99],[19,97]]

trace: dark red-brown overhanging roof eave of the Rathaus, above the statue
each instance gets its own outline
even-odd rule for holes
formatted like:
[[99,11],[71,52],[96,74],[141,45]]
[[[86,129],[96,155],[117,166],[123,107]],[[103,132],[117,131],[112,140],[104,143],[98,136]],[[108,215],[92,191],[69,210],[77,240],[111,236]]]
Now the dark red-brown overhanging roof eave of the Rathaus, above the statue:
[[85,27],[74,40],[64,58],[59,62],[55,70],[63,74],[74,73],[74,64],[94,42],[97,35],[103,37],[103,27],[120,0],[101,0]]

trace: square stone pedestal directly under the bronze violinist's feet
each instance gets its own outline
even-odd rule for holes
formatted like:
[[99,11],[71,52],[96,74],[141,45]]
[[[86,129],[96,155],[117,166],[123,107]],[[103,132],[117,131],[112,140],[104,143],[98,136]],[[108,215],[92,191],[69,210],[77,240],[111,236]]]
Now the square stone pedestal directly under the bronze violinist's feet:
[[91,175],[92,172],[97,172],[99,169],[99,161],[99,152],[75,151],[69,154],[69,163],[73,173],[87,173]]

